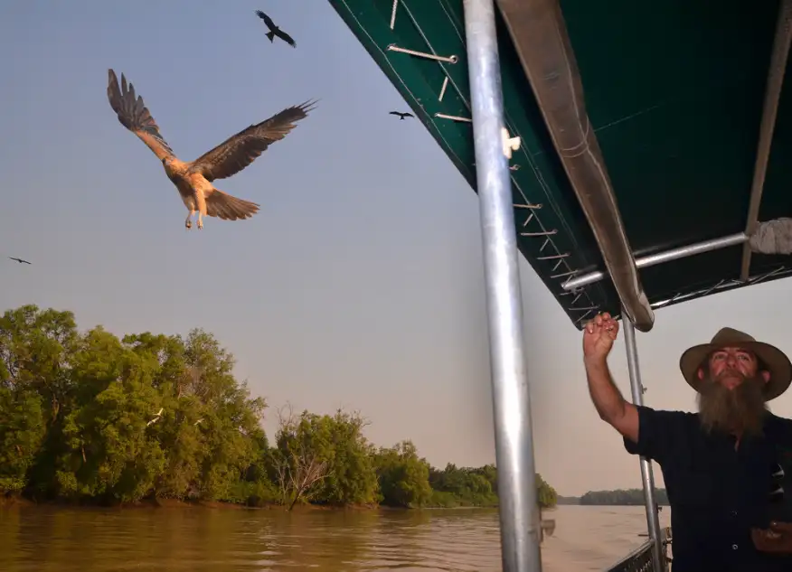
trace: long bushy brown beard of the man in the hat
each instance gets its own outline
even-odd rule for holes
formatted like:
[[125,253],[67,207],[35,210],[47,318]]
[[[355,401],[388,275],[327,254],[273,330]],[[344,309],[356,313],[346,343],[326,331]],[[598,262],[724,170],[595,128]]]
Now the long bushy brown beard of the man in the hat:
[[[723,375],[740,375],[737,371],[723,371]],[[702,380],[698,395],[699,416],[707,433],[719,429],[727,433],[760,435],[767,412],[763,394],[764,380],[759,376],[743,378],[734,389],[728,389],[708,376]]]

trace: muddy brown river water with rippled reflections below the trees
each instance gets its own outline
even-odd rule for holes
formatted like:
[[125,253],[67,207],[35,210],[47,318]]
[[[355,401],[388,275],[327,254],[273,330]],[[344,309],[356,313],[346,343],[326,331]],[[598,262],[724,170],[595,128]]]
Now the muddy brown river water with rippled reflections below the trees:
[[[545,572],[601,570],[646,530],[641,507],[560,507],[545,517],[557,521]],[[492,510],[17,507],[0,510],[0,547],[3,572],[501,569]]]

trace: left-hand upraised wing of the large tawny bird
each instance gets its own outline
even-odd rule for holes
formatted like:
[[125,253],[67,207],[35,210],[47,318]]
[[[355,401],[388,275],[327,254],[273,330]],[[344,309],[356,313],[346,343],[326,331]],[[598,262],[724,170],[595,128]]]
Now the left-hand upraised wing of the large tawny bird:
[[154,117],[146,108],[143,98],[135,97],[135,87],[130,82],[127,86],[127,78],[121,74],[121,86],[118,87],[118,77],[116,72],[108,70],[108,101],[110,107],[116,112],[118,121],[122,126],[140,137],[154,152],[154,155],[162,161],[165,158],[174,157],[174,151],[165,141],[165,137],[159,132]]

